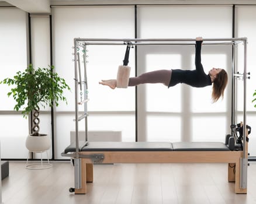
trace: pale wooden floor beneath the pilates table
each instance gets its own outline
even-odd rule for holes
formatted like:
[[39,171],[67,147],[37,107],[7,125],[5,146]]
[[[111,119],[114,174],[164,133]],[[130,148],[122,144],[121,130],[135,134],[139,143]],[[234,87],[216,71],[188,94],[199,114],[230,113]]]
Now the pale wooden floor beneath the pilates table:
[[256,203],[256,164],[248,167],[248,194],[234,194],[227,182],[227,164],[98,164],[88,194],[74,187],[70,162],[54,162],[46,170],[27,170],[24,162],[9,163],[2,181],[5,204],[72,203]]

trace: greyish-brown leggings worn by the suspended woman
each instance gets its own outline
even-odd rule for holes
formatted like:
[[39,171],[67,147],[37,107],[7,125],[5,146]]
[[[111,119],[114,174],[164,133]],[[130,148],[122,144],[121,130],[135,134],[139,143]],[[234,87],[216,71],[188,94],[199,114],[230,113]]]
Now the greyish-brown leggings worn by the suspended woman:
[[171,80],[171,75],[172,71],[167,69],[146,72],[140,76],[130,78],[128,86],[137,86],[143,83],[162,83],[165,86],[168,86]]

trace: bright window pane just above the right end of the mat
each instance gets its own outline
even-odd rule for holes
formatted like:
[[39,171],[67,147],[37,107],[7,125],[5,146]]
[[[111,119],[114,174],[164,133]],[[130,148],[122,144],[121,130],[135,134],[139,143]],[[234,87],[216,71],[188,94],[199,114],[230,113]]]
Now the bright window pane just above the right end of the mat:
[[[203,122],[202,122],[203,121]],[[227,118],[225,116],[193,117],[192,141],[193,142],[225,142]]]

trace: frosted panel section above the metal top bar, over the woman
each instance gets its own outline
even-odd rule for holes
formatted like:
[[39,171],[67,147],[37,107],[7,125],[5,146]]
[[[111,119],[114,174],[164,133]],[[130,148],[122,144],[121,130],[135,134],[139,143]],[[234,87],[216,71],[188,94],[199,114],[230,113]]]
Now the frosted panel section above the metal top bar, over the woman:
[[143,38],[232,36],[232,6],[138,6]]

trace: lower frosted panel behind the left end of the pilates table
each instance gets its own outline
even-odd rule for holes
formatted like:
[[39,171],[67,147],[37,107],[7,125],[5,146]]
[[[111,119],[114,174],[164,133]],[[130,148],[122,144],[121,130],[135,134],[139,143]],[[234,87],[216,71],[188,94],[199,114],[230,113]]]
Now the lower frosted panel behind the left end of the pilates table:
[[[74,115],[57,114],[56,126],[56,159],[67,159],[61,157],[61,152],[70,145],[70,131],[75,131]],[[79,122],[79,131],[85,128],[84,121]],[[88,131],[122,131],[122,141],[135,141],[135,117],[134,113],[122,115],[90,114],[88,117]],[[61,141],[61,142],[60,142]]]

